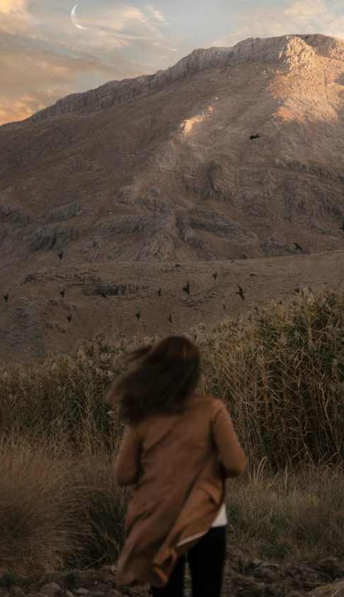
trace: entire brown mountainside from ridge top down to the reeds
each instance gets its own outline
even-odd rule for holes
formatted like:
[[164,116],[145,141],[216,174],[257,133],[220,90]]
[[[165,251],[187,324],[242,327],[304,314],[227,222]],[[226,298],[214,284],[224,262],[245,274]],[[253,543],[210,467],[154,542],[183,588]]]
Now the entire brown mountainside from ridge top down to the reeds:
[[1,126],[0,358],[341,283],[343,84],[343,40],[252,38]]

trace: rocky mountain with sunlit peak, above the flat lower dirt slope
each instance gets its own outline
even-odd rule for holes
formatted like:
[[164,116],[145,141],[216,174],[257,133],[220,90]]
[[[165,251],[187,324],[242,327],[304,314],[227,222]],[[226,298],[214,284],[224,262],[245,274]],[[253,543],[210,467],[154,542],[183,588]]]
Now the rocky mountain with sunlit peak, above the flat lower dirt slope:
[[[128,262],[343,251],[343,85],[344,40],[251,38],[1,126],[0,290],[18,290],[23,320],[28,305],[44,319],[42,297],[23,302],[52,270],[46,300],[61,268],[86,280]],[[11,308],[0,356],[21,353]],[[50,346],[36,321],[35,344]]]

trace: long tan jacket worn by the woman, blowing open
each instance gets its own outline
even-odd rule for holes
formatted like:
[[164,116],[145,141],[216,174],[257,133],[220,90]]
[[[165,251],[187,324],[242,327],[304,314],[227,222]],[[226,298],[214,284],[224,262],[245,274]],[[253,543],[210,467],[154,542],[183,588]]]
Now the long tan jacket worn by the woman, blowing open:
[[127,426],[115,464],[118,486],[135,484],[118,561],[118,586],[167,584],[178,557],[209,530],[226,499],[227,477],[247,459],[225,403],[195,394],[182,415]]

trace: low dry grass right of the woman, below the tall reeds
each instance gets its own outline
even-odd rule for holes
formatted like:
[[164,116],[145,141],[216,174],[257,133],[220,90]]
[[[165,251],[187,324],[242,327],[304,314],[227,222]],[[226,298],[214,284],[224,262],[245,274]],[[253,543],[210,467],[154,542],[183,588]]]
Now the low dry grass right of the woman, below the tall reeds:
[[291,562],[344,556],[343,471],[327,467],[248,473],[228,483],[231,544],[260,559]]

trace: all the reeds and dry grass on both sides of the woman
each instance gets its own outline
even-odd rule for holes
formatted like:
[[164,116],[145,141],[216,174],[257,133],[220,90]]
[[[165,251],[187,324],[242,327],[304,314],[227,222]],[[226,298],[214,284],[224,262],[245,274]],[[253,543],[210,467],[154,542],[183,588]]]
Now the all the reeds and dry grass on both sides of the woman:
[[[344,556],[344,296],[309,290],[194,335],[200,389],[228,402],[250,463],[228,483],[231,544],[276,562]],[[0,366],[0,562],[13,574],[117,559],[130,492],[114,485],[123,425],[104,393],[132,345],[99,337]]]

